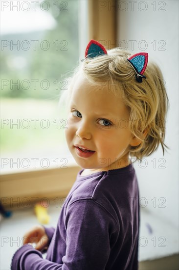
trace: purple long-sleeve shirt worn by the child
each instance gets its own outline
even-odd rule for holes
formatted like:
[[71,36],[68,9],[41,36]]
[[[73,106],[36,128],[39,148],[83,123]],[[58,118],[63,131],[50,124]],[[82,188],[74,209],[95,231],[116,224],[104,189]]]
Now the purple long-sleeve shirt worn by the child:
[[20,247],[11,270],[137,270],[139,192],[132,165],[82,176],[80,170],[49,238],[46,258]]

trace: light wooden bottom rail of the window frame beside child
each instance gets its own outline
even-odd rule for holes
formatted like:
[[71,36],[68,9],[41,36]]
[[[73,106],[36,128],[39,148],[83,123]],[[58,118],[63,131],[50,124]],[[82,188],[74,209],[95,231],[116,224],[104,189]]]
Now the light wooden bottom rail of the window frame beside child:
[[80,169],[74,161],[68,160],[65,166],[59,168],[8,171],[0,177],[1,203],[6,209],[15,210],[23,205],[23,200],[33,205],[34,199],[66,197]]

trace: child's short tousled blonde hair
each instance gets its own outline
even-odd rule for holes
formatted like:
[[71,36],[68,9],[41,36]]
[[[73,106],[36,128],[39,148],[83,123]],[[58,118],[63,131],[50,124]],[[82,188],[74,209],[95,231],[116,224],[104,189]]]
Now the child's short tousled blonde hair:
[[[169,149],[164,143],[165,117],[169,100],[161,70],[156,63],[149,61],[144,72],[147,79],[139,83],[135,80],[133,67],[126,60],[132,55],[130,52],[114,48],[107,53],[80,61],[73,76],[67,78],[68,91],[62,91],[60,104],[65,101],[67,106],[72,86],[81,73],[93,85],[98,85],[99,81],[110,81],[116,85],[111,91],[115,95],[122,96],[129,110],[131,120],[129,127],[132,134],[141,140],[139,145],[130,146],[129,155],[141,161],[143,157],[155,152],[159,143],[164,155],[164,147]],[[147,135],[144,138],[145,130]]]

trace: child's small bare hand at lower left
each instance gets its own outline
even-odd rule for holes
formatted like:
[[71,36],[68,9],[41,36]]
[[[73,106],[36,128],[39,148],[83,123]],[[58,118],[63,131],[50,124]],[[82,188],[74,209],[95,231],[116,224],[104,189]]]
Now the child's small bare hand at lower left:
[[23,236],[23,244],[35,243],[35,249],[42,251],[47,249],[48,236],[45,234],[45,228],[41,225],[32,227]]

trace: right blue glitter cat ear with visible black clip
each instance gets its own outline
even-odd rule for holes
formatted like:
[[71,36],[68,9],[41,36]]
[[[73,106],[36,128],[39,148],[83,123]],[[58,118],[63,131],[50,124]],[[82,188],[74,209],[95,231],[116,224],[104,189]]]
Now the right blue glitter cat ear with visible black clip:
[[142,78],[146,79],[146,76],[142,75],[147,67],[148,63],[148,54],[147,53],[138,53],[132,55],[127,61],[134,68],[136,73],[135,79],[138,82],[142,82]]

